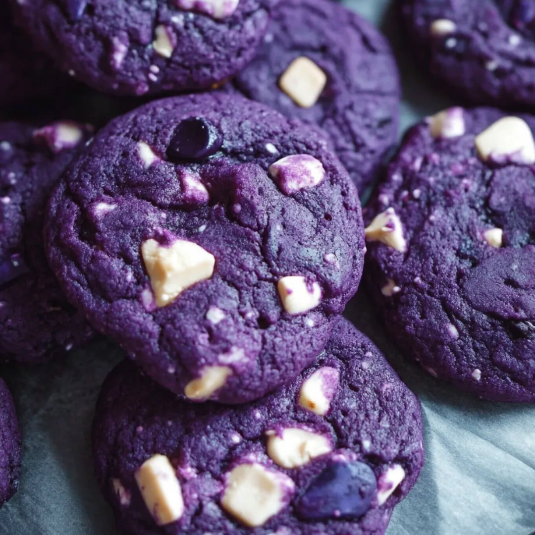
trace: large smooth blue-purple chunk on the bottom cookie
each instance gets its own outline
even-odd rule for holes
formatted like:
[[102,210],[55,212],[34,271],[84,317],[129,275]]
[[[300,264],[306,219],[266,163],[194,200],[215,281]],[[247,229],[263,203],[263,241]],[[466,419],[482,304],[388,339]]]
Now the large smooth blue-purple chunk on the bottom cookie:
[[312,482],[297,511],[308,520],[357,518],[368,511],[376,491],[377,480],[367,464],[336,462]]

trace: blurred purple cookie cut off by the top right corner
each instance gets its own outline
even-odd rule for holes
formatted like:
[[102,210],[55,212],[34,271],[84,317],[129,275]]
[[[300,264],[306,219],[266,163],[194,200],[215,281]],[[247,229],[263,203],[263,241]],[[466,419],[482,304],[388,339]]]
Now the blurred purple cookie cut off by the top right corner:
[[535,4],[530,0],[399,0],[411,52],[474,105],[532,109]]

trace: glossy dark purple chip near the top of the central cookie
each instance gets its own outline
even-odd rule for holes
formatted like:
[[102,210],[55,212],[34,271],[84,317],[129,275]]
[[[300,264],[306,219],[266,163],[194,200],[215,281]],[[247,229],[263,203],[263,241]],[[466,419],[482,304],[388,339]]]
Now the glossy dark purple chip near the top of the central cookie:
[[173,160],[203,160],[216,154],[223,144],[218,128],[204,117],[190,117],[175,128],[167,148]]

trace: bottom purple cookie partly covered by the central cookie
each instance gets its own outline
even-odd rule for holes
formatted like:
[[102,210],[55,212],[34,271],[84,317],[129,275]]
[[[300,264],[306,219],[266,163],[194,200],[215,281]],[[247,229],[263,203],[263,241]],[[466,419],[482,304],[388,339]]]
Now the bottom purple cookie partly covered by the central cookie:
[[314,365],[239,407],[189,403],[119,364],[93,452],[125,535],[380,535],[424,463],[422,414],[341,319]]

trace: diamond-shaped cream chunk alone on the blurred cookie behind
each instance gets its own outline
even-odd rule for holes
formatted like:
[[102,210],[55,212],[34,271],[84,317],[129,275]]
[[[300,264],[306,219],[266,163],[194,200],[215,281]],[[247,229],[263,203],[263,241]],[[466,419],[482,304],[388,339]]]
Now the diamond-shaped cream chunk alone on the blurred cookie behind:
[[327,75],[309,58],[293,60],[279,79],[279,87],[301,108],[311,108],[327,83]]

